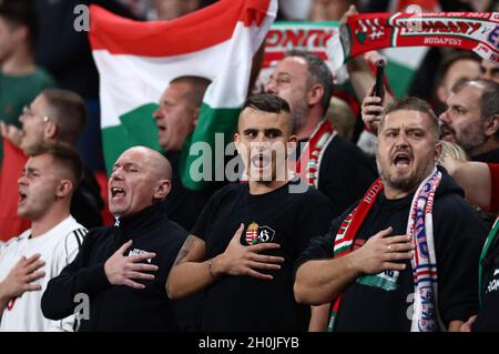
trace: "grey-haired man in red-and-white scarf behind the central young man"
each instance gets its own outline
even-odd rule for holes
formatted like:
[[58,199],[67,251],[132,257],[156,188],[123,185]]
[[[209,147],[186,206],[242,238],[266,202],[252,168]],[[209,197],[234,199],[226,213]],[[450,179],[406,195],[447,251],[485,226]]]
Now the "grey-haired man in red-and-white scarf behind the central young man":
[[265,91],[291,107],[299,143],[299,175],[323,192],[338,212],[361,198],[377,178],[376,166],[325,118],[333,94],[333,74],[326,63],[313,53],[291,51],[276,65]]

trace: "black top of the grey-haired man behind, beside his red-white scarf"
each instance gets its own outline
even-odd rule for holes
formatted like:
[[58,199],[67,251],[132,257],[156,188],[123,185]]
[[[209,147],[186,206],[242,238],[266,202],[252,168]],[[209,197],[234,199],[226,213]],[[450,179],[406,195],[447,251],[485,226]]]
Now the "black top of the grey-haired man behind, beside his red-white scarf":
[[363,198],[377,178],[374,160],[349,141],[336,135],[320,162],[318,190],[343,213]]

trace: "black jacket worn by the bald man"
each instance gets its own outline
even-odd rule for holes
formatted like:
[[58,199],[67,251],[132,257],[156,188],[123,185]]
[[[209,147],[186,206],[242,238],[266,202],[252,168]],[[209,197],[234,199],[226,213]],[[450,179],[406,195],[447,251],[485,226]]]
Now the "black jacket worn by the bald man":
[[[90,318],[80,331],[175,331],[177,328],[166,279],[187,232],[167,220],[164,205],[156,204],[120,220],[119,225],[91,230],[77,259],[52,279],[42,296],[43,315],[61,320],[74,312],[79,293],[90,300]],[[151,264],[159,266],[154,281],[138,281],[143,290],[111,285],[104,272],[105,261],[126,241],[125,252],[154,252]]]

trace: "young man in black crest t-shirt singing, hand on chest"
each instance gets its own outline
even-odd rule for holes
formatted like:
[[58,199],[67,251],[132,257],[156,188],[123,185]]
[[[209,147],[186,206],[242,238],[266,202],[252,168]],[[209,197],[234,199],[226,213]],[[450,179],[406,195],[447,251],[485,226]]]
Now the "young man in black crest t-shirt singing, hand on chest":
[[234,138],[248,183],[213,195],[170,273],[171,299],[205,290],[204,331],[308,326],[308,306],[293,295],[294,264],[309,239],[327,231],[333,212],[319,192],[299,191],[291,181],[285,160],[286,144],[296,141],[292,125],[283,99],[247,100]]

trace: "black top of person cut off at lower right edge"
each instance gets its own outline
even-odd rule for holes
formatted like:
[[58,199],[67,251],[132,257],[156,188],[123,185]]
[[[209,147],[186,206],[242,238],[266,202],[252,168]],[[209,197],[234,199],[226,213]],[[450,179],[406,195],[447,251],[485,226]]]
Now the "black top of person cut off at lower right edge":
[[[498,221],[496,221],[498,222]],[[482,304],[473,331],[499,331],[499,234],[496,234],[482,261]]]

